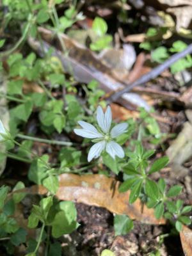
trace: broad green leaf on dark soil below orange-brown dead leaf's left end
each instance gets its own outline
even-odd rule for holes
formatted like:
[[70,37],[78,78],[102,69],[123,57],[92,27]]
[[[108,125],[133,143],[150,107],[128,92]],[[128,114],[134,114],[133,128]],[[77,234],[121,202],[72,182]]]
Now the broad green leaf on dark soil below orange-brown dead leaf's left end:
[[[62,221],[61,221],[62,220]],[[70,234],[78,227],[76,220],[70,220],[63,211],[56,213],[54,221],[52,221],[52,236],[58,238],[63,234]]]

